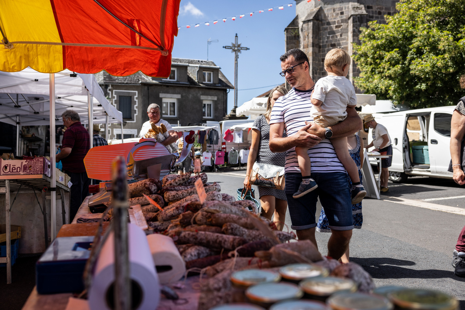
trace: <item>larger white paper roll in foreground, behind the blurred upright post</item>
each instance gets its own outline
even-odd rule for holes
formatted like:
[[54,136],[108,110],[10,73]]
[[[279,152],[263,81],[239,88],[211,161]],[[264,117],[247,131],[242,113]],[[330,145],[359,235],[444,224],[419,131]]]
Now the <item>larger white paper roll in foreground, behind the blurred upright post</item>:
[[[135,310],[156,309],[160,300],[158,276],[146,234],[139,227],[128,224],[129,270]],[[113,310],[114,288],[114,233],[110,233],[100,252],[89,291],[91,310]]]

